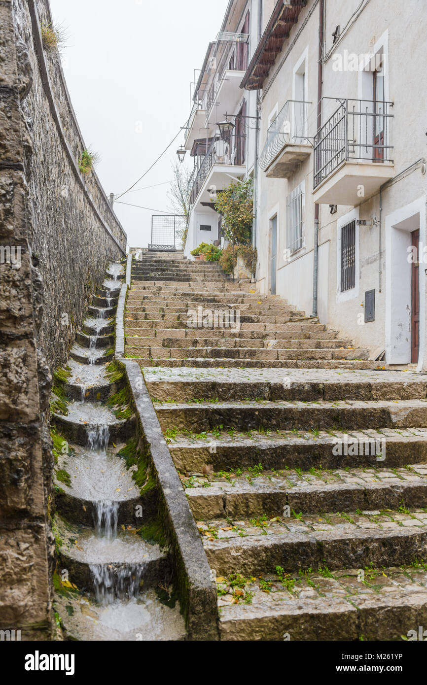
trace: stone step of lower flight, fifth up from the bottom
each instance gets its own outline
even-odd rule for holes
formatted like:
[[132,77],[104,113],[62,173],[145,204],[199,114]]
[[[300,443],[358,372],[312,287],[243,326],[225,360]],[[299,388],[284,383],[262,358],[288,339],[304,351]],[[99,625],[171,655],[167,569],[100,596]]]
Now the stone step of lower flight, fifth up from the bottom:
[[427,427],[427,400],[230,401],[156,403],[163,430],[317,430]]

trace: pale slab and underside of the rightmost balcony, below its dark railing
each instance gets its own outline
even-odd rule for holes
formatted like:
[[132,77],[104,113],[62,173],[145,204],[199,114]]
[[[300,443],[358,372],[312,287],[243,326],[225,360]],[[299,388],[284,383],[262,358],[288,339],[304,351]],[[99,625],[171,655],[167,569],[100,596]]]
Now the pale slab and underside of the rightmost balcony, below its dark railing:
[[348,160],[313,190],[316,204],[356,207],[394,175],[393,162]]

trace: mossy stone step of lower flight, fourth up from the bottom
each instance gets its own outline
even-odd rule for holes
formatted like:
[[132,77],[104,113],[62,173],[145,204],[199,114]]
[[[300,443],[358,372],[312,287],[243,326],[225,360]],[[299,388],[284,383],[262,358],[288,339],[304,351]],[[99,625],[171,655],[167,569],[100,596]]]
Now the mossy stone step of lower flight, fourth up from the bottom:
[[[156,403],[155,403],[156,406]],[[224,433],[175,434],[169,430],[167,441],[177,469],[183,473],[208,471],[233,472],[249,466],[264,470],[354,469],[384,466],[395,469],[408,464],[426,464],[427,429],[361,429],[306,432],[280,431],[243,433],[230,429]],[[385,440],[385,443],[382,442]],[[345,449],[345,445],[356,445]],[[341,447],[342,446],[342,447]],[[385,454],[384,462],[372,456]],[[346,453],[347,452],[347,453]],[[408,472],[411,475],[411,472]]]

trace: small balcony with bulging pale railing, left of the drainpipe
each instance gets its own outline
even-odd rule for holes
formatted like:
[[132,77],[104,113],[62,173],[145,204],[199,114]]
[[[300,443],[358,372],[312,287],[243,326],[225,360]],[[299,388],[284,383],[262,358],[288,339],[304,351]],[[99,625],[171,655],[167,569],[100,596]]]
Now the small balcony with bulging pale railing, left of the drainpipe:
[[269,126],[260,167],[269,178],[288,178],[313,150],[306,137],[310,102],[288,100]]

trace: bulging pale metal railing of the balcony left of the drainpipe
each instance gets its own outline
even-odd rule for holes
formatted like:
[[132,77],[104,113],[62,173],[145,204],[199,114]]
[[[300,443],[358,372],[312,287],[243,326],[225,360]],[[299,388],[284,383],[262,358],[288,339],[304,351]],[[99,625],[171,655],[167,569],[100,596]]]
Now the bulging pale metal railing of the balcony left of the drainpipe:
[[267,130],[267,140],[260,155],[265,171],[285,145],[307,145],[308,105],[302,100],[288,100]]

